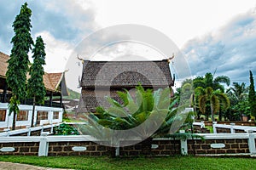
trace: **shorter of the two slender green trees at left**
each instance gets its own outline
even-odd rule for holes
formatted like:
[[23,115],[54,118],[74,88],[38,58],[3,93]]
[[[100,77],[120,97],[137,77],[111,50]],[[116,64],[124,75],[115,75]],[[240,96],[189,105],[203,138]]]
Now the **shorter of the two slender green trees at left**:
[[32,49],[33,64],[30,67],[30,78],[27,83],[27,94],[33,98],[33,110],[32,110],[32,124],[33,117],[35,115],[35,105],[44,103],[44,96],[46,94],[44,88],[44,67],[45,65],[45,52],[44,41],[42,37],[37,37],[35,48]]

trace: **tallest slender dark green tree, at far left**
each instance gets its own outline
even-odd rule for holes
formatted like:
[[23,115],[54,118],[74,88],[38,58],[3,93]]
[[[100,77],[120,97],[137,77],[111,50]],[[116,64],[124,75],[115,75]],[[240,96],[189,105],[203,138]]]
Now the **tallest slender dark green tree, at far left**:
[[16,115],[19,112],[20,100],[26,97],[26,73],[28,71],[28,52],[32,48],[32,37],[30,34],[32,10],[24,3],[20,8],[20,14],[15,17],[13,23],[15,36],[12,38],[13,48],[8,60],[8,71],[6,81],[12,89],[12,97],[9,103],[10,113],[14,113],[12,129],[15,129]]

